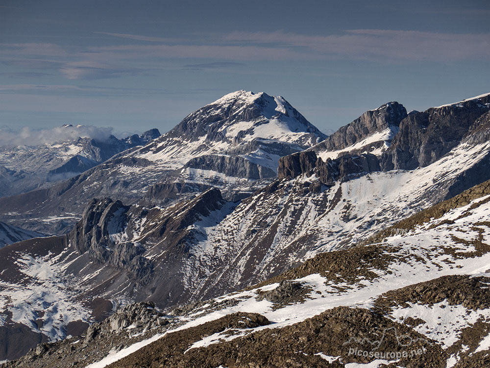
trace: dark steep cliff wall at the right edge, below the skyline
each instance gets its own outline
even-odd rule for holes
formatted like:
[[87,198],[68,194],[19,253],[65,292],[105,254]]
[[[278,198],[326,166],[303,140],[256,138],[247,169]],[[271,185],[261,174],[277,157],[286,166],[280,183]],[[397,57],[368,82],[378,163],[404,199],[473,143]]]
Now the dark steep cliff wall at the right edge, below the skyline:
[[390,149],[383,154],[382,169],[412,170],[430,165],[457,146],[489,110],[490,95],[411,114],[401,121]]

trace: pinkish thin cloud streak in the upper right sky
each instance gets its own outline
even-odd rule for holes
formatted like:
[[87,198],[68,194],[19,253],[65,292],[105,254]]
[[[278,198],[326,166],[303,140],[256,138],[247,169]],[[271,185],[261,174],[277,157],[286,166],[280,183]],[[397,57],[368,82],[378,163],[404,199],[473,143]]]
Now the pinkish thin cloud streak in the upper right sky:
[[233,32],[227,42],[302,48],[318,56],[436,61],[490,58],[490,34],[455,34],[389,29],[352,29],[340,35],[311,36],[276,32]]

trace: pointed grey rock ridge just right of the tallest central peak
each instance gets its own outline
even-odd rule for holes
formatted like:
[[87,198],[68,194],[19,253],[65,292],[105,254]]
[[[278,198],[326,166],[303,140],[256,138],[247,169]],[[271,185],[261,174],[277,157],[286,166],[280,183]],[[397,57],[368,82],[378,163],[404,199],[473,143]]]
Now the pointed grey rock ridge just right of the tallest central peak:
[[314,147],[316,152],[337,151],[353,145],[370,133],[398,127],[407,117],[407,109],[397,102],[389,102],[375,110],[368,110],[352,123],[340,128]]

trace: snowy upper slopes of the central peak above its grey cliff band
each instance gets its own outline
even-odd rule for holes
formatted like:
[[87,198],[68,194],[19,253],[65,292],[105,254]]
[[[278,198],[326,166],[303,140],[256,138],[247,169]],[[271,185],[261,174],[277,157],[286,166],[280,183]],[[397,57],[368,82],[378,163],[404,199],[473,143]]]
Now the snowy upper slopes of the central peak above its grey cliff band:
[[[233,155],[276,171],[281,154],[324,138],[283,97],[242,90],[196,110],[131,156],[151,161],[161,170],[174,170],[199,156]],[[271,152],[273,143],[284,147]]]

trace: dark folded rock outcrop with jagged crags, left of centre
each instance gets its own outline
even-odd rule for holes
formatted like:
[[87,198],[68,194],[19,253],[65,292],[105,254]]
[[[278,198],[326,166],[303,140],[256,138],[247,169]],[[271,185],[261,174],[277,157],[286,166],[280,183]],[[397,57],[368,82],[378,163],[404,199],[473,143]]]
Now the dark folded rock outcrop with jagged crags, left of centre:
[[[169,292],[178,299],[184,291],[178,278],[192,243],[193,225],[224,203],[215,188],[165,210],[94,199],[65,239],[95,263],[126,271],[139,289],[137,299],[150,294],[155,302],[165,304]],[[175,279],[165,284],[169,275]]]

